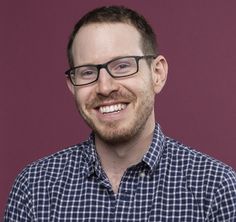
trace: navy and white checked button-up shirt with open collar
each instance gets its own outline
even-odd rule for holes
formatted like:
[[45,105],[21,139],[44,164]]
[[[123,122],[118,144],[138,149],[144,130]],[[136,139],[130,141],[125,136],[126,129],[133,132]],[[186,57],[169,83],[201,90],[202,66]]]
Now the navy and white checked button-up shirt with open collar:
[[142,161],[115,195],[94,135],[41,159],[17,177],[5,221],[236,221],[233,169],[165,137],[156,125]]

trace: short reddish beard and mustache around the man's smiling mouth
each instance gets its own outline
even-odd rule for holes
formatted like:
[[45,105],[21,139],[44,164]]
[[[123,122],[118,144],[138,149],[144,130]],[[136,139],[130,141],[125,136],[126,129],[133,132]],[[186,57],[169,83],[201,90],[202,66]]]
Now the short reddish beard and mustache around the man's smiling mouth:
[[[108,96],[97,94],[96,97],[89,99],[89,101],[85,104],[84,109],[80,106],[78,102],[76,102],[77,108],[85,120],[85,122],[89,125],[89,127],[95,132],[95,134],[103,141],[109,144],[116,144],[117,142],[122,143],[129,141],[131,138],[138,136],[142,129],[145,127],[147,119],[152,113],[153,105],[154,105],[154,97],[152,95],[148,95],[146,91],[143,91],[143,95],[141,96],[143,100],[140,103],[143,109],[139,109],[138,113],[134,113],[134,121],[131,122],[131,125],[124,125],[119,127],[119,122],[100,122],[96,123],[96,120],[93,120],[92,116],[88,115],[86,111],[90,112],[91,110],[98,109],[99,106],[104,104],[104,102],[124,102],[127,104],[132,103],[130,105],[134,105],[137,102],[137,97],[135,94],[131,92],[112,92]],[[98,125],[102,124],[102,125]]]

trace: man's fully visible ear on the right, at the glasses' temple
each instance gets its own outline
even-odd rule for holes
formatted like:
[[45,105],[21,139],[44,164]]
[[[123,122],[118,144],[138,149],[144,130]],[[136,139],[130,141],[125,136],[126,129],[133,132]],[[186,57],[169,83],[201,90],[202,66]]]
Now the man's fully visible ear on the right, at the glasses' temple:
[[152,62],[152,78],[155,93],[159,93],[165,85],[168,73],[168,64],[164,56],[159,55]]

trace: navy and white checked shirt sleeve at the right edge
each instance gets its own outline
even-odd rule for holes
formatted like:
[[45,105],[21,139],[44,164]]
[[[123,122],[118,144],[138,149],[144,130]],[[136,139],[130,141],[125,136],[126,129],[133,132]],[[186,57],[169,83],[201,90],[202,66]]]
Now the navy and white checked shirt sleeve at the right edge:
[[212,222],[236,221],[236,173],[228,171],[220,183],[209,212]]

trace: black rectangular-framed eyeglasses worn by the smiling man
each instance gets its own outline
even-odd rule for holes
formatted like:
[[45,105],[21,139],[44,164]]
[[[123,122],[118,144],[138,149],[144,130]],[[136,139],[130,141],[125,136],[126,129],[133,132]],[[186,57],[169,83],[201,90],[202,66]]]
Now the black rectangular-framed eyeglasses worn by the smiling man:
[[100,69],[104,68],[113,78],[134,75],[139,71],[140,59],[155,59],[154,55],[125,56],[108,61],[104,64],[88,64],[73,67],[65,72],[74,86],[84,86],[96,82]]

